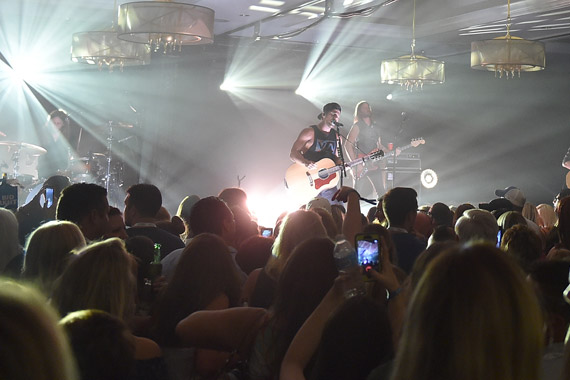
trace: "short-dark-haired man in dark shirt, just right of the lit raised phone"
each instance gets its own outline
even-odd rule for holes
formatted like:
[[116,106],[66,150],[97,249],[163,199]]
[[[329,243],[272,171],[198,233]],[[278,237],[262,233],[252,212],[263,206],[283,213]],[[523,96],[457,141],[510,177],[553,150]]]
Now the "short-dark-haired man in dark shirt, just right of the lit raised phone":
[[416,220],[418,201],[412,188],[395,187],[384,194],[382,208],[388,220],[388,231],[396,246],[398,266],[410,273],[414,261],[426,248],[426,243],[410,233]]

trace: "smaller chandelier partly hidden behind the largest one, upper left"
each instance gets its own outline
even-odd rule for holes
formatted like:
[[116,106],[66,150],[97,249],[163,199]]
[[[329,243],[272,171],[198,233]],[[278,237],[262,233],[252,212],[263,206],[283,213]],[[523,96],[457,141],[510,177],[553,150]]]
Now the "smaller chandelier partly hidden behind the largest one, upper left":
[[117,32],[80,32],[71,39],[71,60],[73,62],[107,66],[109,71],[118,66],[146,65],[150,62],[150,47],[119,40]]

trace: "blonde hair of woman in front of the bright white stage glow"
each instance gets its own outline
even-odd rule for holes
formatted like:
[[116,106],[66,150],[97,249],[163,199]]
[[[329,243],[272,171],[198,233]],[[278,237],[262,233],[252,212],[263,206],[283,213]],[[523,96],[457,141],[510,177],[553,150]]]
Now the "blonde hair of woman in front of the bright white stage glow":
[[313,211],[297,210],[288,214],[281,224],[281,231],[273,244],[273,255],[265,269],[273,278],[279,278],[293,249],[312,237],[326,237],[327,231],[321,217]]

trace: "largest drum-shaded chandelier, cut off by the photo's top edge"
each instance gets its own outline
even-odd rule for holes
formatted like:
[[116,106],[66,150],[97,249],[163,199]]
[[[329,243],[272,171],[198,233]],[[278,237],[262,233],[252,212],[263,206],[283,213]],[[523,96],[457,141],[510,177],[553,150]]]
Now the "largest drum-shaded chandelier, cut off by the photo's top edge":
[[183,45],[209,44],[214,41],[214,11],[171,1],[121,4],[118,37],[164,53],[181,51]]

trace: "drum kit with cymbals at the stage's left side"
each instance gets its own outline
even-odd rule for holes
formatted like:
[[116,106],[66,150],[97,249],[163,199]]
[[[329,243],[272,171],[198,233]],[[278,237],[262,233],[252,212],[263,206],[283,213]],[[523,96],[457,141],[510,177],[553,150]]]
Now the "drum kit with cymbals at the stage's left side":
[[[65,170],[58,174],[65,175],[74,183],[96,183],[113,192],[123,186],[124,164],[120,157],[113,154],[114,143],[123,143],[134,136],[116,139],[113,136],[115,128],[125,131],[133,128],[131,124],[110,121],[105,125],[107,138],[104,152],[91,152],[69,158]],[[6,135],[0,131],[0,137]],[[17,186],[21,205],[32,199],[41,189],[46,178],[39,178],[38,161],[47,150],[41,146],[17,141],[0,141],[0,175],[6,173],[8,183]]]

